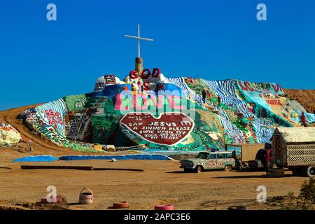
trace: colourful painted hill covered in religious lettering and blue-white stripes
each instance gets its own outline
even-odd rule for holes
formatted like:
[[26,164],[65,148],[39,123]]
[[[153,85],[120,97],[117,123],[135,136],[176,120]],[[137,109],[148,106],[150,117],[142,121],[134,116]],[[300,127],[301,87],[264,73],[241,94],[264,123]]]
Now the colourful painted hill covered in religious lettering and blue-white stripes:
[[210,150],[267,142],[277,126],[299,127],[302,113],[315,122],[313,113],[285,96],[274,83],[167,78],[160,69],[145,69],[124,81],[102,76],[94,92],[36,106],[20,117],[32,132],[76,151],[96,151],[97,144]]

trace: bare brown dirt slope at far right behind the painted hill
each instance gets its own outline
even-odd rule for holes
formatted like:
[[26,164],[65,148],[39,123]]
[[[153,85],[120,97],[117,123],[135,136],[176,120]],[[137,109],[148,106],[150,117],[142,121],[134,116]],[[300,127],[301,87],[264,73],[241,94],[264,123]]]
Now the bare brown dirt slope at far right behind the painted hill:
[[289,90],[283,89],[290,99],[296,100],[309,113],[315,113],[315,90]]

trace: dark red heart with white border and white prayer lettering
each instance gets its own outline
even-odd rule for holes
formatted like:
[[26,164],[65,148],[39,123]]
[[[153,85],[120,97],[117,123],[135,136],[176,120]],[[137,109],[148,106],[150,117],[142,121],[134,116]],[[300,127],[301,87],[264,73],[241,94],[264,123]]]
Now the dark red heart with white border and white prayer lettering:
[[151,113],[127,113],[120,125],[146,141],[174,146],[193,131],[195,123],[184,113],[161,113],[158,118]]

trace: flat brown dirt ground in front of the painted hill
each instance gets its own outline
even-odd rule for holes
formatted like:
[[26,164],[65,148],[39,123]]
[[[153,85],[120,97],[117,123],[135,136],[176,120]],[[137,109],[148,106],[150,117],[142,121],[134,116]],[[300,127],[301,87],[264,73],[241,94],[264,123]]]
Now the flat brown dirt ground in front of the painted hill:
[[[0,123],[13,125],[23,137],[33,141],[33,152],[27,152],[27,144],[20,143],[10,148],[0,147],[0,209],[109,209],[114,202],[130,202],[130,209],[153,209],[156,204],[174,204],[176,209],[227,209],[230,206],[246,206],[247,209],[280,209],[276,204],[261,204],[256,201],[258,186],[267,188],[268,200],[275,196],[298,195],[300,186],[307,178],[292,176],[290,171],[283,178],[263,178],[265,172],[204,172],[183,173],[178,161],[160,160],[83,160],[23,165],[84,165],[95,168],[144,169],[130,171],[79,171],[67,169],[20,169],[15,158],[29,155],[83,155],[32,135],[16,117],[29,107],[0,111]],[[107,153],[109,154],[109,153]],[[107,155],[106,153],[102,155]],[[122,154],[113,152],[111,154]],[[57,194],[66,198],[66,203],[43,207],[41,197],[46,188],[55,186]],[[83,188],[94,193],[94,203],[78,204],[78,195]]]

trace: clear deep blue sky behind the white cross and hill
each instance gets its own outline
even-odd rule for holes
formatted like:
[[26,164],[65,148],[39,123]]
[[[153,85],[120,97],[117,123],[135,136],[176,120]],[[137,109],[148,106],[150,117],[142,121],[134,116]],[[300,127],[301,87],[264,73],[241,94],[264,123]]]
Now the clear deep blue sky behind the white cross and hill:
[[[55,3],[57,21],[46,6]],[[256,20],[258,3],[267,21]],[[90,92],[106,73],[238,78],[315,88],[315,1],[21,0],[0,5],[0,110]]]

